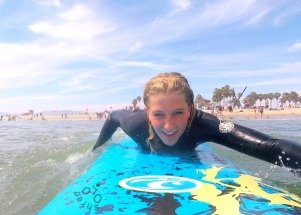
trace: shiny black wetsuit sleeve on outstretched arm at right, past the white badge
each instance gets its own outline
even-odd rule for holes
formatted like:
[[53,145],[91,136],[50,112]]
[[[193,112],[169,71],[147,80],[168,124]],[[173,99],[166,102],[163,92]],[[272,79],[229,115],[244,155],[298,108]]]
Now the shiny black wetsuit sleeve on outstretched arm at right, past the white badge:
[[294,141],[276,139],[235,124],[229,133],[219,132],[216,142],[279,166],[301,169],[301,144]]

